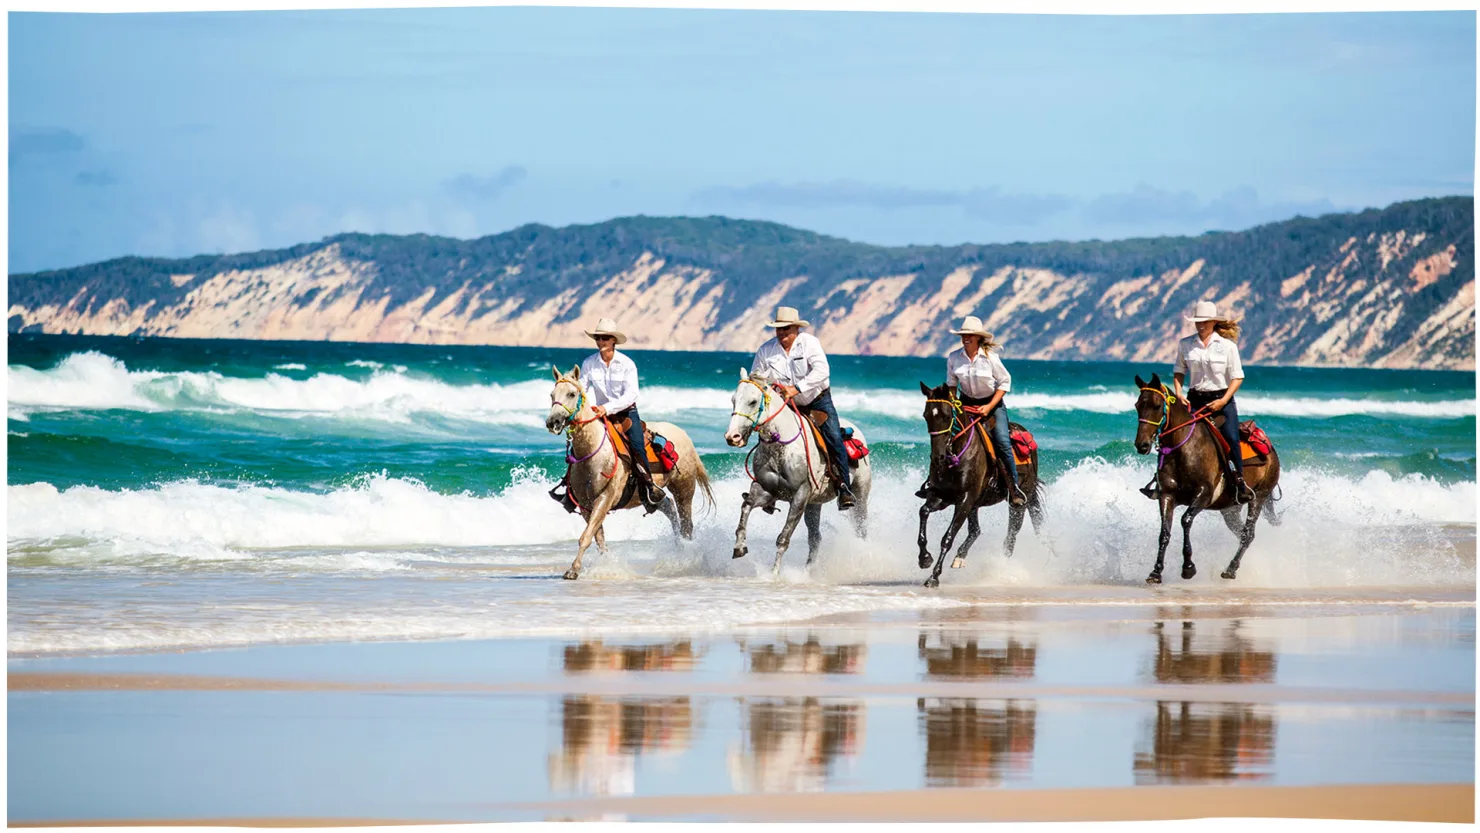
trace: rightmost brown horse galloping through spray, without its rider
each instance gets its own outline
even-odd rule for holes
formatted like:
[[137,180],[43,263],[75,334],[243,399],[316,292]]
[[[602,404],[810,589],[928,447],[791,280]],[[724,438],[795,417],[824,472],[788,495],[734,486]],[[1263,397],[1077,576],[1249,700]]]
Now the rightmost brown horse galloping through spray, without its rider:
[[[1194,420],[1187,405],[1172,397],[1154,373],[1150,382],[1143,382],[1137,376],[1135,386],[1141,391],[1135,399],[1135,413],[1141,420],[1135,431],[1135,450],[1147,454],[1153,444],[1157,445],[1156,482],[1160,488],[1157,502],[1162,507],[1162,537],[1156,547],[1156,567],[1146,581],[1162,583],[1166,544],[1172,540],[1172,512],[1178,506],[1187,507],[1183,512],[1183,579],[1197,574],[1197,568],[1193,567],[1193,518],[1203,509],[1222,512],[1228,530],[1239,536],[1239,552],[1222,571],[1224,579],[1237,577],[1239,562],[1254,542],[1254,524],[1280,482],[1279,453],[1271,448],[1262,462],[1254,459],[1243,463],[1243,481],[1254,490],[1254,500],[1249,502],[1248,519],[1240,522],[1242,505],[1237,502],[1231,478],[1225,475],[1211,420],[1205,417]],[[1239,450],[1234,448],[1231,453],[1237,454]],[[1270,522],[1279,524],[1273,505]]]

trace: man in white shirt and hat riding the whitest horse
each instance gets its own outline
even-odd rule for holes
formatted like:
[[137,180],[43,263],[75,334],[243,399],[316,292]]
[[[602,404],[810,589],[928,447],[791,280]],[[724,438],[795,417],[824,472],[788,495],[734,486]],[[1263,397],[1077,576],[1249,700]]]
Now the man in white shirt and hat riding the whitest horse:
[[852,476],[848,469],[848,450],[842,444],[838,408],[833,407],[832,401],[827,354],[823,352],[817,336],[802,333],[802,327],[810,326],[811,323],[798,317],[795,308],[778,306],[776,321],[767,323],[767,327],[776,330],[776,337],[755,351],[750,373],[761,373],[771,379],[776,388],[804,414],[813,411],[827,414],[827,422],[821,425],[821,434],[827,441],[827,453],[832,454],[838,469],[838,509],[851,509],[855,503]]

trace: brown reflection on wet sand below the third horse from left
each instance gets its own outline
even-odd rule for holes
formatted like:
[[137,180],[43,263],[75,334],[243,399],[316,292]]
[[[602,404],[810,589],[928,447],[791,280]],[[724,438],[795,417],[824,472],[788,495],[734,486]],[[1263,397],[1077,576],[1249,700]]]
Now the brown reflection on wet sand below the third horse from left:
[[[1030,679],[1037,645],[1006,636],[921,633],[926,679]],[[980,787],[1033,768],[1037,706],[1032,700],[929,697],[916,701],[925,734],[925,786]]]

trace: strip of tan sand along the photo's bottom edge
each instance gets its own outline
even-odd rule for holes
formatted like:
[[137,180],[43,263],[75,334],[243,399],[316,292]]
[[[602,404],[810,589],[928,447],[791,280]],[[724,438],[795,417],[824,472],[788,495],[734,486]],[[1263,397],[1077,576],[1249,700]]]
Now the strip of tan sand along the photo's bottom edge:
[[[1185,786],[1086,790],[895,790],[872,793],[710,795],[574,799],[508,805],[562,817],[725,821],[1156,821],[1183,818],[1331,818],[1474,823],[1474,784],[1326,787]],[[468,818],[480,821],[480,818]],[[437,824],[371,818],[68,820],[10,827],[366,827]]]

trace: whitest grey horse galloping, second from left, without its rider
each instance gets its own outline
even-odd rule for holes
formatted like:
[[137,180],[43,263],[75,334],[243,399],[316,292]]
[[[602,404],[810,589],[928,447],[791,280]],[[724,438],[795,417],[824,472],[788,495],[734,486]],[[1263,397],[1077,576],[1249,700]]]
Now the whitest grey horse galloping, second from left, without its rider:
[[[827,476],[827,457],[818,447],[810,428],[802,425],[796,408],[787,407],[786,397],[771,388],[771,380],[761,374],[749,374],[740,368],[740,385],[736,386],[730,398],[730,429],[725,431],[725,442],[734,448],[744,447],[750,441],[750,434],[756,435],[756,447],[750,451],[755,456],[750,491],[740,499],[740,528],[736,530],[736,550],[733,558],[744,558],[749,547],[744,543],[744,527],[750,519],[750,510],[759,506],[767,513],[776,512],[776,502],[787,502],[786,522],[781,524],[781,534],[776,539],[776,564],[771,573],[781,571],[781,556],[792,544],[792,533],[796,522],[807,518],[807,564],[817,558],[817,547],[823,542],[823,503],[838,497],[838,490]],[[858,426],[845,419],[839,419],[839,428],[852,429],[852,435],[863,439]],[[873,482],[873,469],[869,459],[858,460],[858,468],[852,472],[852,496],[857,503],[852,507],[852,527],[858,537],[869,534],[869,487]]]

